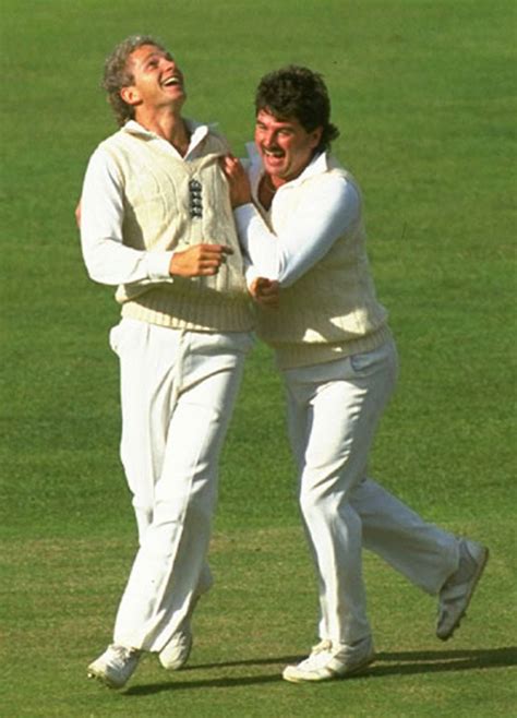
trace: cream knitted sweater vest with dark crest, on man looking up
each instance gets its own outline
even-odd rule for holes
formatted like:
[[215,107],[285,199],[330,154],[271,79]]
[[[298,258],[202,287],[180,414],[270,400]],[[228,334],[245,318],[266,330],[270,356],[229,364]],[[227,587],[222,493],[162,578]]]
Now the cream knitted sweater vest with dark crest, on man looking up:
[[122,316],[172,328],[245,332],[253,325],[242,255],[219,157],[226,143],[211,132],[202,156],[173,157],[145,135],[120,130],[101,143],[124,184],[123,242],[146,251],[184,250],[193,244],[228,244],[219,272],[211,277],[175,277],[152,286],[120,285]]

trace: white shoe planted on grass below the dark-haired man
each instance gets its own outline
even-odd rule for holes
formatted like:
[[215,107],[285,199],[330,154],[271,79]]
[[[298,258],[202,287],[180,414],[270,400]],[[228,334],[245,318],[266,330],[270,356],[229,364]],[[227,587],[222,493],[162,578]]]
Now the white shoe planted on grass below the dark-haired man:
[[281,675],[291,683],[329,681],[357,673],[374,658],[375,651],[370,636],[350,646],[333,647],[330,641],[322,641],[313,647],[309,658],[298,666],[288,666]]

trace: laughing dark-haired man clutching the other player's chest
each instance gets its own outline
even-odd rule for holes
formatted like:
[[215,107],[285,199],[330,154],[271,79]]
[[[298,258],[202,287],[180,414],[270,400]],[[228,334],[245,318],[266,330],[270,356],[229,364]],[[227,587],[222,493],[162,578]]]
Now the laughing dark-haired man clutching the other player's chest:
[[394,390],[397,355],[365,251],[362,200],[329,154],[338,131],[317,73],[288,67],[255,96],[249,177],[225,160],[251,288],[280,287],[260,312],[258,334],[276,352],[287,388],[299,500],[320,594],[320,643],[284,678],[347,677],[374,659],[361,572],[362,547],[423,590],[438,595],[436,634],[465,614],[488,550],[426,524],[368,475],[375,429]]

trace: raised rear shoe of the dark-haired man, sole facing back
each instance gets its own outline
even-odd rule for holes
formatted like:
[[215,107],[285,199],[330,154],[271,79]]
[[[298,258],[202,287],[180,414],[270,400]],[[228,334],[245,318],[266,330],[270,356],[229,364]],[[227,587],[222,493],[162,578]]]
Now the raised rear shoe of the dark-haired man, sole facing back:
[[461,539],[459,565],[440,591],[436,636],[441,641],[452,637],[464,618],[476,586],[489,560],[489,549],[476,541]]

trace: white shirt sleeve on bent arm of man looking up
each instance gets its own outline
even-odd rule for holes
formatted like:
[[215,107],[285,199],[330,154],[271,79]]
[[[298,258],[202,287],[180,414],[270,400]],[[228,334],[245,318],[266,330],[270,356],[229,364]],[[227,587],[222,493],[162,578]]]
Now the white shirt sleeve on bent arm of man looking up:
[[106,285],[172,282],[172,252],[123,244],[123,184],[119,169],[99,147],[86,169],[81,198],[81,244],[88,275]]

